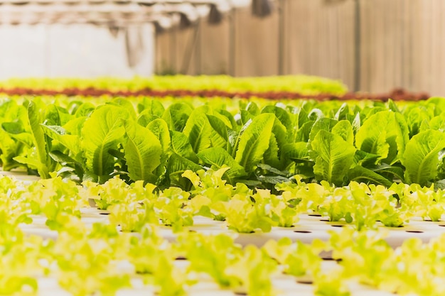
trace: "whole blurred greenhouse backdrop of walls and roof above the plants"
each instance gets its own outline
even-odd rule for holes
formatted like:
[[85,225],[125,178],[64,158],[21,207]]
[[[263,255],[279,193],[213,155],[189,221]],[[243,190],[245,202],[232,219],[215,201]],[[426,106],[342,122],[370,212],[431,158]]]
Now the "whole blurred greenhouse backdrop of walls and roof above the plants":
[[443,0],[0,0],[0,79],[318,75],[444,95]]

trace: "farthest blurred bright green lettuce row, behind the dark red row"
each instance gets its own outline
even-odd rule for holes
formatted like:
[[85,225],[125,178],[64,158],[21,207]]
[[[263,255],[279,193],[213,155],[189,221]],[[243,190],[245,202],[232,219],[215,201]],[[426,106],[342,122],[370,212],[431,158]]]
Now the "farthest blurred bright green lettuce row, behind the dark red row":
[[218,90],[225,92],[298,92],[301,94],[345,94],[347,88],[336,80],[316,76],[230,77],[230,76],[154,76],[129,80],[104,77],[79,78],[14,78],[0,82],[0,89],[104,89],[116,91],[153,90]]

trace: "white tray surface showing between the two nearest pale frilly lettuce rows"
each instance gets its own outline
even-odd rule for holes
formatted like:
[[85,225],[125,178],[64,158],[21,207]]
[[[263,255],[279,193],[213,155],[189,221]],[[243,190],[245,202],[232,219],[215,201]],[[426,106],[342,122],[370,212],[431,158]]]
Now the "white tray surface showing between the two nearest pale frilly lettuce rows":
[[[17,180],[32,182],[38,180],[37,176],[26,175],[26,172],[14,171],[3,172],[0,174],[16,177]],[[85,224],[93,224],[95,222],[107,223],[107,212],[96,209],[94,207],[81,209],[82,221]],[[36,234],[45,238],[57,237],[56,231],[50,231],[45,226],[44,216],[33,216],[33,224],[22,224],[21,229],[26,234]],[[343,226],[347,226],[344,221],[329,222],[328,217],[318,215],[301,214],[299,222],[291,228],[274,227],[269,233],[257,232],[254,234],[237,234],[235,241],[242,244],[253,244],[255,246],[262,246],[269,239],[278,240],[283,237],[289,237],[293,241],[302,241],[303,243],[311,243],[314,239],[321,239],[326,241],[329,239],[329,231],[341,231]],[[194,217],[194,225],[187,227],[190,231],[198,231],[203,234],[234,234],[234,231],[227,229],[227,225],[223,221],[213,221],[203,216]],[[422,239],[424,243],[428,243],[432,238],[440,236],[445,233],[445,221],[432,222],[423,221],[421,218],[414,218],[405,224],[403,227],[385,227],[381,226],[388,232],[386,241],[396,248],[401,246],[405,239],[417,237]],[[176,235],[173,234],[171,228],[167,226],[159,227],[159,234],[165,239],[173,241]]]

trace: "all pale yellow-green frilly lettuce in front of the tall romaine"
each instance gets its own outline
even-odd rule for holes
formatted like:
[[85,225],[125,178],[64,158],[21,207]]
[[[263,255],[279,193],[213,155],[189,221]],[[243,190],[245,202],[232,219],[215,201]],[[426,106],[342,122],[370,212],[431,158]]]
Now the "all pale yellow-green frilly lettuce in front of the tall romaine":
[[[445,236],[429,243],[409,239],[394,249],[385,241],[385,231],[370,230],[377,219],[392,227],[414,214],[436,221],[444,213],[444,190],[434,185],[385,188],[358,182],[333,187],[328,182],[306,184],[296,179],[277,186],[282,194],[274,195],[269,190],[229,185],[222,179],[225,171],[184,172],[193,186],[191,192],[178,187],[156,191],[155,185],[144,185],[142,180],[128,185],[117,177],[83,186],[61,177],[28,185],[0,177],[0,261],[4,266],[0,292],[35,295],[40,292],[40,278],[57,279],[73,295],[115,295],[131,288],[135,279],[159,295],[186,295],[189,286],[201,278],[233,292],[259,296],[274,295],[279,289],[274,281],[284,278],[311,281],[316,295],[350,295],[349,287],[358,283],[400,295],[444,292],[437,283],[445,276]],[[90,224],[80,219],[87,198],[109,204],[109,221]],[[261,248],[243,247],[227,234],[183,229],[193,224],[193,216],[206,213],[203,208],[219,209],[232,200],[250,205],[247,210],[245,204],[238,208],[238,216],[227,212],[225,223],[232,229],[264,227],[267,231],[313,209],[355,227],[331,231],[326,241],[308,244],[285,237]],[[287,208],[295,211],[286,212]],[[210,214],[218,216],[211,210]],[[41,217],[57,234],[55,238],[23,234],[20,224]],[[159,221],[184,231],[176,234],[176,240],[167,241],[156,230]],[[331,253],[338,263],[326,268],[321,252]],[[178,257],[187,261],[178,263],[174,260]]]

